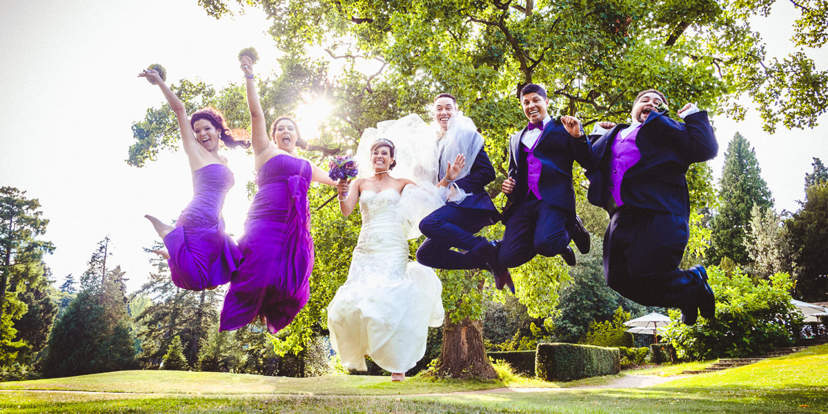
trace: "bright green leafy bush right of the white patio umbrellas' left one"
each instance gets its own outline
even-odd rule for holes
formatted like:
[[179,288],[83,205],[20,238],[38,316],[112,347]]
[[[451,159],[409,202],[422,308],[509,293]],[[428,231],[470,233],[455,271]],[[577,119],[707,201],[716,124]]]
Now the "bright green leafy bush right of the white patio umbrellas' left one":
[[792,277],[777,273],[757,280],[738,267],[730,276],[719,267],[708,267],[710,287],[716,295],[715,319],[700,318],[696,325],[672,323],[663,337],[676,348],[681,359],[715,359],[763,354],[790,346],[802,323],[802,313],[788,293]]

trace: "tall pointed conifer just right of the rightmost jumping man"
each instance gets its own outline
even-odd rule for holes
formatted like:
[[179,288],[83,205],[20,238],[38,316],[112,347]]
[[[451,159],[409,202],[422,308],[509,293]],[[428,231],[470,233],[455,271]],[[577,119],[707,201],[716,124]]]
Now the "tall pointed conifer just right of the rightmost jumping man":
[[712,222],[712,254],[710,263],[719,264],[730,258],[738,264],[750,262],[745,248],[745,235],[750,232],[750,211],[773,208],[768,184],[762,178],[756,152],[742,134],[736,135],[724,152],[720,181],[720,208]]

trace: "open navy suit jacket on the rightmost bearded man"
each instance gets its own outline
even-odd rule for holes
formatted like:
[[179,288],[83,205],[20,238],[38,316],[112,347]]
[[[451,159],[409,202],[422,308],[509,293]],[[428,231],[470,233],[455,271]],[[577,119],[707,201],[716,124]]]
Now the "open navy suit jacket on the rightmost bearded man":
[[[694,162],[713,159],[719,143],[706,111],[692,113],[685,123],[652,112],[636,136],[641,160],[631,166],[621,181],[624,205],[655,209],[690,218],[690,195],[687,191],[687,168]],[[587,169],[590,203],[607,208],[609,168],[615,136],[629,125],[619,124],[597,137],[592,143],[597,168]]]

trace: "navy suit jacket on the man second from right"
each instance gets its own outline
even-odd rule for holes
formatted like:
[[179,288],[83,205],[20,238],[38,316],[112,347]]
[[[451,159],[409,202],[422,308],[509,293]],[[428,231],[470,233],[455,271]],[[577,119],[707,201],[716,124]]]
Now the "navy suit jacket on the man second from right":
[[[520,138],[526,128],[509,138],[509,176],[515,179],[515,188],[508,194],[509,205],[503,209],[504,223],[513,208],[526,201],[528,192],[527,161]],[[583,132],[581,132],[583,133]],[[575,138],[566,131],[561,121],[546,123],[538,137],[534,156],[541,161],[538,190],[544,202],[575,214],[575,189],[572,187],[572,162],[584,168],[594,168],[595,156],[586,140],[586,134]]]

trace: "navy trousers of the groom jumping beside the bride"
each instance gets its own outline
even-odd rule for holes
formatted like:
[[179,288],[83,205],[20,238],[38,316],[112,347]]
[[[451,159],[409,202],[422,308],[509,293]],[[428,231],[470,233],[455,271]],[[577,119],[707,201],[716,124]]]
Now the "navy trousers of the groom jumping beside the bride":
[[466,209],[456,205],[444,205],[434,210],[420,222],[420,231],[426,241],[416,249],[416,261],[436,269],[488,269],[486,258],[474,250],[489,240],[474,233],[492,224],[491,216],[488,209]]

